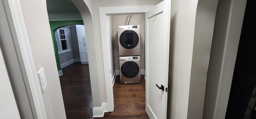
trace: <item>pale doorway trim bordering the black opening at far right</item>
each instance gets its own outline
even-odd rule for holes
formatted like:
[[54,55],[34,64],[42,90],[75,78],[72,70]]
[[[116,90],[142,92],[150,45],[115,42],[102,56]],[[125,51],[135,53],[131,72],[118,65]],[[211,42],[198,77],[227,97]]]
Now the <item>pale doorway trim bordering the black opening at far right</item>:
[[217,96],[215,97],[216,101],[214,102],[214,107],[210,107],[214,109],[212,112],[213,119],[224,119],[226,116],[226,109],[228,106],[228,99],[230,96],[230,89],[236,63],[236,55],[238,52],[242,24],[244,21],[246,1],[247,0],[231,0],[224,50],[221,51],[223,52],[223,57],[220,77],[217,80]]

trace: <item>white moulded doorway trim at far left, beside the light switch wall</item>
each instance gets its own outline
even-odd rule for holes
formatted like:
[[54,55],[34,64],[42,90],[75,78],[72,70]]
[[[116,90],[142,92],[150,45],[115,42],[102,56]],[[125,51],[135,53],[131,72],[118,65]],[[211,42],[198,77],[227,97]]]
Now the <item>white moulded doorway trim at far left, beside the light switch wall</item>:
[[[44,101],[42,98],[42,90],[40,87],[39,78],[36,72],[36,66],[32,57],[32,51],[28,40],[25,21],[22,14],[21,4],[19,0],[4,0],[2,1],[8,23],[10,24],[10,33],[12,41],[18,57],[18,62],[22,70],[22,78],[25,85],[28,85],[31,92],[28,91],[30,108],[34,118],[47,119]],[[10,19],[9,19],[10,18]]]

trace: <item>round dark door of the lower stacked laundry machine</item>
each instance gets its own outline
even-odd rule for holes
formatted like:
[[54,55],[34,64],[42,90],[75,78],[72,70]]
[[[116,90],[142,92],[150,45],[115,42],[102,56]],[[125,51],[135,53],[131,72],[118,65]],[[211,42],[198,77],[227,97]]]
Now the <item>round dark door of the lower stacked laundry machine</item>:
[[133,61],[124,62],[121,66],[121,72],[127,78],[134,78],[138,75],[139,71],[140,68],[138,64]]

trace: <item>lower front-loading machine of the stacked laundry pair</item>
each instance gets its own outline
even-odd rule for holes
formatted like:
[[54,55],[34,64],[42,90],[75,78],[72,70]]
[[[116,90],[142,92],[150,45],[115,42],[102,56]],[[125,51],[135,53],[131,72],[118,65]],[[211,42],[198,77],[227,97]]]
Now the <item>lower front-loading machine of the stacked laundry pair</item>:
[[121,84],[140,83],[140,56],[119,57]]

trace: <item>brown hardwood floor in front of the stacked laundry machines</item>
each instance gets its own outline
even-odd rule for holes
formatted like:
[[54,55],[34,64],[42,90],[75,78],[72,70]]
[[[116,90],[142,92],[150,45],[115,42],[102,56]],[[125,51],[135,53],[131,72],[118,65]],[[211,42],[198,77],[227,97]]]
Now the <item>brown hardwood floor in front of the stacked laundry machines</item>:
[[145,79],[140,76],[140,84],[120,84],[116,76],[114,84],[114,111],[100,119],[149,119],[145,111]]

